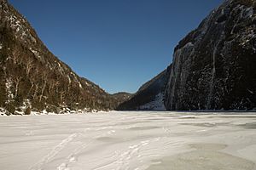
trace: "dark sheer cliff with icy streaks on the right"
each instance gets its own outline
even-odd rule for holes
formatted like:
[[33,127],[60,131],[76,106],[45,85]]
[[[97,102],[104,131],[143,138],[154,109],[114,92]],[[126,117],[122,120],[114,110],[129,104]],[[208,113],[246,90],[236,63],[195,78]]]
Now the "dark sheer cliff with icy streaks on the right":
[[167,110],[256,108],[255,5],[255,0],[227,0],[179,42]]

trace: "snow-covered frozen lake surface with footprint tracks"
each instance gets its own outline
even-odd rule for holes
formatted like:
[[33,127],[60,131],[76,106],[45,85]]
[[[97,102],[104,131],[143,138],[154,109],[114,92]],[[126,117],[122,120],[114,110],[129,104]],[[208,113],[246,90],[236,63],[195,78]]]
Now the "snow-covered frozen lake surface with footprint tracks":
[[2,170],[256,169],[256,115],[1,116]]

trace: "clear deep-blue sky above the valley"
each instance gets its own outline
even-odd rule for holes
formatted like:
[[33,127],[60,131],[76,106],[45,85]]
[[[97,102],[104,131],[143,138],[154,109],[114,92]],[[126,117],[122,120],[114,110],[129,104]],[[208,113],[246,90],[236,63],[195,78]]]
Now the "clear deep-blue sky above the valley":
[[136,92],[223,0],[9,0],[49,50],[108,93]]

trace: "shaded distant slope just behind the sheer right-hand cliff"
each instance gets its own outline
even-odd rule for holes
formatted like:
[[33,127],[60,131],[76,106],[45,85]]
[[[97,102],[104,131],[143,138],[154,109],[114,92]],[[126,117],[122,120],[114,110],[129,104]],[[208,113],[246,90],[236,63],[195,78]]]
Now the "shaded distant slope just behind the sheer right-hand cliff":
[[131,99],[119,105],[118,110],[165,111],[164,96],[172,65],[143,84]]

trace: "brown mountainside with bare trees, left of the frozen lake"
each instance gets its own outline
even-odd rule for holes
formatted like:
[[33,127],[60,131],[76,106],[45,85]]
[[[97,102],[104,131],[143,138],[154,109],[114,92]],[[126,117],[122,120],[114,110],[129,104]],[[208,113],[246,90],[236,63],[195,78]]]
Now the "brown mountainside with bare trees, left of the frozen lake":
[[44,110],[108,111],[125,101],[79,77],[57,59],[7,0],[0,0],[0,20],[2,110],[9,114]]

